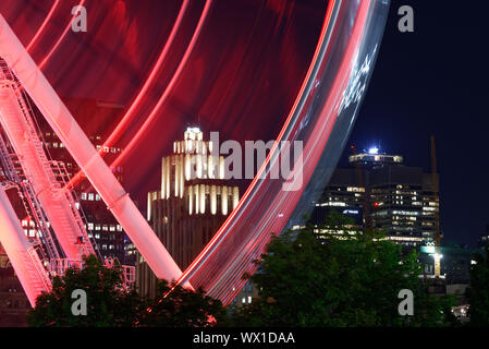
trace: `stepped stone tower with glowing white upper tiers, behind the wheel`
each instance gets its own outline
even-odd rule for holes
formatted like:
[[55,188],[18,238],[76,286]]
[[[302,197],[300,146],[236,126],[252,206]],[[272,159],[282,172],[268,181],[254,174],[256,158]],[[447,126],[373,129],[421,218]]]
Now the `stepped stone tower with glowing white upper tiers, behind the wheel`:
[[[161,188],[148,193],[147,219],[179,267],[185,269],[237,206],[240,191],[229,185],[222,156],[197,128],[173,143],[161,161]],[[137,263],[137,288],[156,296],[157,278],[143,257]]]

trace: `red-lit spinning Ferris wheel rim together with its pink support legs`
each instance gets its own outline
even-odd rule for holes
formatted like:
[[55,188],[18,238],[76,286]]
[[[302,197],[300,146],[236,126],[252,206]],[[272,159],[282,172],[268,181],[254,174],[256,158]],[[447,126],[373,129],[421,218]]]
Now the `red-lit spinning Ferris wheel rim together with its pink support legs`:
[[[195,38],[211,2],[205,3]],[[302,218],[309,209],[308,202],[326,185],[329,169],[338,161],[365,94],[389,1],[327,3],[307,74],[266,163],[237,207],[183,272],[0,15],[0,242],[33,306],[36,298],[50,289],[53,276],[62,275],[68,267],[82,267],[83,256],[100,254],[76,207],[63,164],[50,159],[42,147],[30,100],[155,275],[188,288],[203,287],[227,304],[244,285],[243,274],[256,269],[254,261],[264,253],[272,236]],[[187,1],[182,2],[182,11],[186,4]],[[195,40],[190,45],[193,47]],[[183,70],[184,64],[176,69],[174,80],[180,67]],[[294,159],[290,176],[272,180],[269,173],[280,166],[280,158],[290,157],[281,142],[299,142],[302,154]],[[9,190],[15,190],[22,198],[38,230],[35,239],[25,236],[7,194]],[[113,262],[106,265],[110,267]],[[126,284],[133,282],[134,268],[124,270]]]

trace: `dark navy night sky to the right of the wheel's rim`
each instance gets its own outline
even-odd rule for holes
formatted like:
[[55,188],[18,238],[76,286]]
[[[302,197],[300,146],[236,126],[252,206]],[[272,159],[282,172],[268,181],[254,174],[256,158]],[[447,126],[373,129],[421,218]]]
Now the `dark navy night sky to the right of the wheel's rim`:
[[[444,242],[476,245],[489,225],[488,34],[485,1],[393,1],[349,144],[377,145],[431,171],[435,135]],[[414,33],[398,10],[414,10]],[[346,147],[341,166],[347,164]]]

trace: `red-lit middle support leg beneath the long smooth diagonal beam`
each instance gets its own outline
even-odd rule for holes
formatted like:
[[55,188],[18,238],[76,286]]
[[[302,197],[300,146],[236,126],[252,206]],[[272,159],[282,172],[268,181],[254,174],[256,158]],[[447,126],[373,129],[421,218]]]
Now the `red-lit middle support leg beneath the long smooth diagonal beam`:
[[[1,64],[4,62],[1,61]],[[81,229],[81,217],[76,215],[78,212],[72,209],[74,203],[70,202],[70,193],[60,190],[58,185],[19,84],[4,67],[0,80],[0,123],[15,154],[19,154],[23,172],[28,173],[36,197],[44,207],[58,241],[69,258],[77,260],[83,255],[95,254],[86,230]],[[76,245],[78,237],[85,237],[86,242]]]

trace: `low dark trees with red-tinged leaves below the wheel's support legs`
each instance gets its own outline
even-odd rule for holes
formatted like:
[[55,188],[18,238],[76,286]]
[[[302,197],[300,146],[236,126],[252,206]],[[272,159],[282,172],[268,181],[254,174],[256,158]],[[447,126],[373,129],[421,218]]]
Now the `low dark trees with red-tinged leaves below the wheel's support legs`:
[[[72,298],[75,290],[86,292],[86,315],[74,315]],[[171,292],[169,292],[171,290]],[[157,299],[139,297],[134,290],[122,288],[122,270],[106,268],[95,256],[84,260],[84,267],[70,268],[63,277],[56,277],[52,290],[44,292],[29,312],[29,326],[157,326],[207,327],[223,321],[225,309],[221,302],[180,286],[161,280]],[[148,312],[148,310],[150,311]]]

